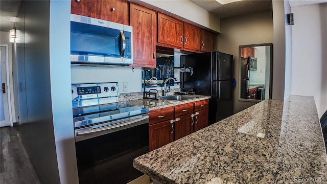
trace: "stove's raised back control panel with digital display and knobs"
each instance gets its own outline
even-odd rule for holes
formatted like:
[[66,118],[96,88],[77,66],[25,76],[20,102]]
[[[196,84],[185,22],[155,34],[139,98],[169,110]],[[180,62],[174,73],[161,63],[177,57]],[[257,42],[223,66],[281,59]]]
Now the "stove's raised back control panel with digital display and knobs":
[[72,84],[72,101],[118,96],[118,82]]

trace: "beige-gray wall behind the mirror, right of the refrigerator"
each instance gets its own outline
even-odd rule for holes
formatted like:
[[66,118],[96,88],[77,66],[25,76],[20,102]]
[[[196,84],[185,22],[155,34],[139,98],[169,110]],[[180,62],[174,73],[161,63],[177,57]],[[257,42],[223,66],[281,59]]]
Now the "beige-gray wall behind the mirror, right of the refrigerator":
[[238,101],[239,45],[273,43],[274,50],[272,17],[272,11],[266,11],[220,20],[221,33],[218,35],[218,51],[233,55],[234,78],[237,80],[233,91],[235,113],[256,103]]

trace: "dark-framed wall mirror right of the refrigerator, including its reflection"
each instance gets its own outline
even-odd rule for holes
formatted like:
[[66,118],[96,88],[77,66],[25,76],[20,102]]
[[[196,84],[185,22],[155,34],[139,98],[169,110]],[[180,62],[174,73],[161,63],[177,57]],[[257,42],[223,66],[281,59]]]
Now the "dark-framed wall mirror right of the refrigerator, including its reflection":
[[271,99],[272,43],[240,45],[239,101]]

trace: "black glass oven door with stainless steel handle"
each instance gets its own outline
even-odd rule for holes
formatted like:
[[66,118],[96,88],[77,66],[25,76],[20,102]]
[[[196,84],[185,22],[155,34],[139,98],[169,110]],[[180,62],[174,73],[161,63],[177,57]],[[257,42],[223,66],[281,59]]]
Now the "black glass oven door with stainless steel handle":
[[[139,117],[139,116],[138,116]],[[80,133],[79,133],[80,132]],[[149,117],[76,131],[79,183],[127,183],[143,173],[133,159],[149,152]]]

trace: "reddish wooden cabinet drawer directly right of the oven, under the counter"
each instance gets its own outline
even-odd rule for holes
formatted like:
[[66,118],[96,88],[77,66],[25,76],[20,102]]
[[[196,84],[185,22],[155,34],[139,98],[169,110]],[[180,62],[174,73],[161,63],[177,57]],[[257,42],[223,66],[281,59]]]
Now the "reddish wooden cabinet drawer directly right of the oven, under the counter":
[[149,112],[149,125],[173,119],[174,108],[172,107],[155,109]]

